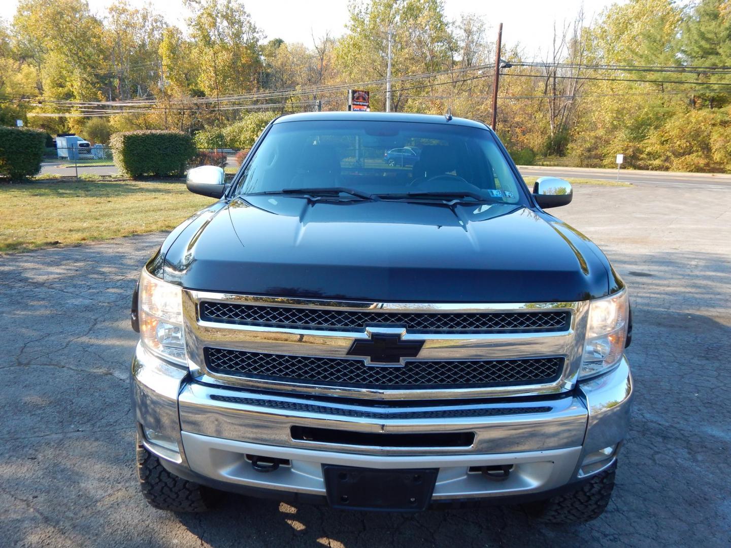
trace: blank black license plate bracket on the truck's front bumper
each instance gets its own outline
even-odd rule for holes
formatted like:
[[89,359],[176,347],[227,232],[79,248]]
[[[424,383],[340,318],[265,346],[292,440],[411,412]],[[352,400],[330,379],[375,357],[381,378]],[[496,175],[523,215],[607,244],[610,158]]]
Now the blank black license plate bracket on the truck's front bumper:
[[339,509],[425,510],[438,473],[439,468],[379,470],[322,465],[327,502]]

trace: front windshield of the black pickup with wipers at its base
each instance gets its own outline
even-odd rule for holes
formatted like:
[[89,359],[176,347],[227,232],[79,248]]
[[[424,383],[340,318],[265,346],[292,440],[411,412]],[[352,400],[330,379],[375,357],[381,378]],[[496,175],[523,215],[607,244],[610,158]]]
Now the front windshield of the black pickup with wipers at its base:
[[488,130],[399,121],[274,124],[235,194],[280,192],[526,203]]

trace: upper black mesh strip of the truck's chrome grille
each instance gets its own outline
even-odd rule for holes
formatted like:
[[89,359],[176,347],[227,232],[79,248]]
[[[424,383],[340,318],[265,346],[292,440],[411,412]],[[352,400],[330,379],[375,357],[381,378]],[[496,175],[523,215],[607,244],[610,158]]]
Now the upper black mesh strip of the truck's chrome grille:
[[383,312],[248,305],[202,301],[204,320],[233,324],[360,330],[372,324],[406,327],[411,331],[556,332],[569,327],[569,311],[526,312]]

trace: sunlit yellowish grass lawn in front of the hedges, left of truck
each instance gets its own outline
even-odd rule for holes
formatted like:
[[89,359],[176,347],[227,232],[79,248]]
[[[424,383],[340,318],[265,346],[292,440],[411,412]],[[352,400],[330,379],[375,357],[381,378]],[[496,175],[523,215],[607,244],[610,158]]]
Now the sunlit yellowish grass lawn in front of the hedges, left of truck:
[[213,201],[182,182],[0,185],[0,252],[170,230]]

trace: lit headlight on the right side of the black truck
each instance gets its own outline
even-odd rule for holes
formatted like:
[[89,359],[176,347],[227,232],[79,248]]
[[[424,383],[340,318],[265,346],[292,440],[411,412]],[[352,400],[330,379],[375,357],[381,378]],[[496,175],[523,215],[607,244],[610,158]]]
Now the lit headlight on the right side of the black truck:
[[579,379],[605,373],[624,352],[629,320],[627,290],[591,301]]

